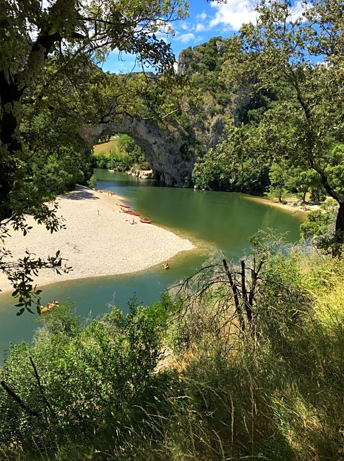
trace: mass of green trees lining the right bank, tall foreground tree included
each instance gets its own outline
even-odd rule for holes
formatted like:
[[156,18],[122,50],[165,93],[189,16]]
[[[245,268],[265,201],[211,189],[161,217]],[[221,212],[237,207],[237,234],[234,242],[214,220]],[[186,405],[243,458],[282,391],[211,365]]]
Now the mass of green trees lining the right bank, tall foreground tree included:
[[[262,1],[256,9],[257,23],[226,40],[220,56],[213,53],[214,74],[242,110],[229,114],[222,142],[198,158],[193,181],[200,188],[265,193],[280,202],[288,195],[305,202],[310,193],[316,203],[330,196],[338,204],[332,244],[340,253],[342,11],[332,0],[305,1],[300,9],[289,1]],[[197,47],[187,53],[191,63],[197,61]],[[193,67],[199,72],[202,66]],[[202,72],[206,76],[209,69]]]

